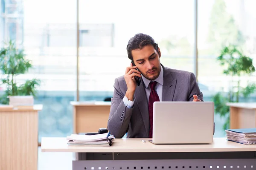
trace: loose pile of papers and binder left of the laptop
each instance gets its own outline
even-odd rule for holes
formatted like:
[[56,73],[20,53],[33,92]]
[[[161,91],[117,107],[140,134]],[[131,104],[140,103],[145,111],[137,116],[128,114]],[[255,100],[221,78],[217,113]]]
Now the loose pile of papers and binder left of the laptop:
[[111,146],[114,136],[110,133],[102,133],[97,135],[77,135],[67,136],[67,144],[69,146]]

